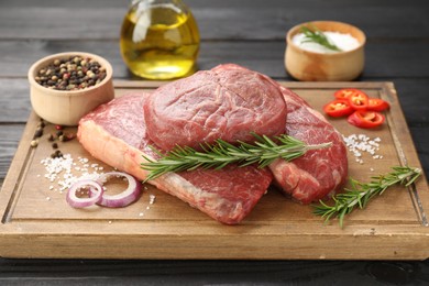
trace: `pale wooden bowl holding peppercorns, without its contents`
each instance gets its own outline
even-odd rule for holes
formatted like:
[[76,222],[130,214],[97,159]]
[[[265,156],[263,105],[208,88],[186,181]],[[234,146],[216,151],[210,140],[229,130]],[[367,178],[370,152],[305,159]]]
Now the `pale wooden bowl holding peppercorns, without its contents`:
[[[55,59],[75,55],[97,61],[106,68],[106,78],[95,86],[78,90],[50,89],[34,79],[41,68],[52,64]],[[51,123],[77,125],[81,117],[114,98],[112,75],[113,69],[110,63],[95,54],[67,52],[46,56],[34,63],[29,70],[31,105],[37,116]]]

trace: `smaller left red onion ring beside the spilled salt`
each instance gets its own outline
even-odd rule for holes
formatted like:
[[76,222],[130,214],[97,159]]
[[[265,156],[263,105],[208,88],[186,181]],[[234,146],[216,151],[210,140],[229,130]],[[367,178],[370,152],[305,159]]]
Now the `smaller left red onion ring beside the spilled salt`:
[[[77,190],[86,186],[90,187],[89,197],[88,198],[77,197],[76,196]],[[68,205],[70,205],[74,208],[86,208],[97,204],[101,199],[102,193],[103,193],[103,188],[100,185],[100,183],[91,179],[82,179],[72,185],[72,187],[67,191],[66,200]]]

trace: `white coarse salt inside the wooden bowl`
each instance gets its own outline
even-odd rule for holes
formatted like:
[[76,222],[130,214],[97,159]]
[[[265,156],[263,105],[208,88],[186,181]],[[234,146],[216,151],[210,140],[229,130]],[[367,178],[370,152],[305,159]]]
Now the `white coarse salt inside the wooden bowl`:
[[[328,41],[336,46],[338,46],[341,51],[348,52],[354,50],[359,46],[359,41],[352,36],[351,34],[344,34],[339,32],[322,32]],[[302,50],[320,53],[320,54],[332,54],[338,53],[338,51],[329,50],[326,46],[322,46],[315,42],[306,42],[306,35],[304,33],[298,33],[292,38],[293,43],[299,46]]]

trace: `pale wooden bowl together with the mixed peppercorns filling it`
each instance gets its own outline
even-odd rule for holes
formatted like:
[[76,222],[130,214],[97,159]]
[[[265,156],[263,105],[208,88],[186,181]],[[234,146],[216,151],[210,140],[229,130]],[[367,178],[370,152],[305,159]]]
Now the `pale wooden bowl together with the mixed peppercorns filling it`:
[[84,52],[46,56],[29,70],[30,98],[37,116],[61,125],[114,98],[113,69],[105,58]]

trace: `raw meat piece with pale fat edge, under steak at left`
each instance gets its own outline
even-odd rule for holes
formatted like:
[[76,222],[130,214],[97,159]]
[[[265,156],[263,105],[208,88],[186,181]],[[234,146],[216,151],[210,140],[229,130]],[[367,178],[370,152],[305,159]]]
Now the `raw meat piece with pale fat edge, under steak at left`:
[[[98,107],[80,120],[77,134],[94,157],[142,180],[147,176],[141,168],[142,155],[156,157],[148,145],[157,147],[147,136],[142,113],[147,96],[128,95]],[[266,193],[272,178],[267,169],[230,165],[167,174],[150,183],[222,223],[235,224]]]

